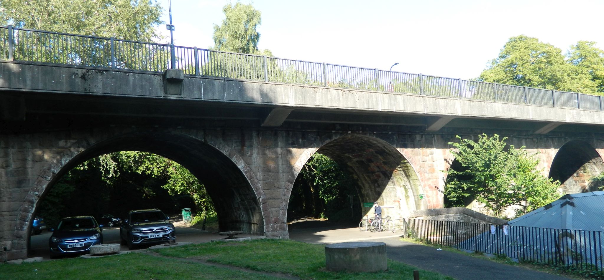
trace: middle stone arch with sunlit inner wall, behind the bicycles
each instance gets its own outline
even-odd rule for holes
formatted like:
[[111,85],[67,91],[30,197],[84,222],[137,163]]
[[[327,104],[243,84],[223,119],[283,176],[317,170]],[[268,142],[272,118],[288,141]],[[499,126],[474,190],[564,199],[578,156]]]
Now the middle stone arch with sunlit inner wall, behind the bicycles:
[[[284,191],[283,205],[289,196],[301,168],[314,153],[321,153],[348,171],[358,182],[357,194],[362,202],[377,201],[392,218],[406,217],[411,211],[427,209],[427,201],[417,172],[407,158],[393,145],[367,135],[344,135],[328,139],[319,148],[307,148],[294,164],[295,176],[291,176]],[[364,213],[370,208],[364,208]],[[287,211],[287,209],[283,209]]]

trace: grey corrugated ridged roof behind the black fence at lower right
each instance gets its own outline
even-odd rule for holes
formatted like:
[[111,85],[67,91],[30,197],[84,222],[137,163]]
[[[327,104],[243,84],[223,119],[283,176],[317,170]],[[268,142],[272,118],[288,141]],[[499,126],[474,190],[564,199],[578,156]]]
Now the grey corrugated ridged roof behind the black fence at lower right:
[[567,194],[508,222],[513,226],[604,231],[604,191]]

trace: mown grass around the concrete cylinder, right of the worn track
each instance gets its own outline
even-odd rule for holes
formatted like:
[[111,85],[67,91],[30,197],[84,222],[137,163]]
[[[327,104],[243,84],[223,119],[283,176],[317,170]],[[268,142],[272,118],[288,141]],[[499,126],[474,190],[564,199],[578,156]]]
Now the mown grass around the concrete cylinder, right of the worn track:
[[[329,272],[325,270],[323,245],[291,240],[261,239],[242,242],[191,244],[158,250],[175,258],[197,258],[211,263],[276,272],[302,279],[413,279],[416,267],[388,260],[388,270],[373,273]],[[422,280],[451,280],[448,276],[420,270]]]

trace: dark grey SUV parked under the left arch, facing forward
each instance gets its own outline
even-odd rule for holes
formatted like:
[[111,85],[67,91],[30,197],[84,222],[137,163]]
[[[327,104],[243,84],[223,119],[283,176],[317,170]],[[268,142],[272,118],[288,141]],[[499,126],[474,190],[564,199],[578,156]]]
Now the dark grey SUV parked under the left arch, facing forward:
[[134,210],[128,212],[120,228],[120,241],[132,250],[140,244],[176,241],[176,232],[161,210]]

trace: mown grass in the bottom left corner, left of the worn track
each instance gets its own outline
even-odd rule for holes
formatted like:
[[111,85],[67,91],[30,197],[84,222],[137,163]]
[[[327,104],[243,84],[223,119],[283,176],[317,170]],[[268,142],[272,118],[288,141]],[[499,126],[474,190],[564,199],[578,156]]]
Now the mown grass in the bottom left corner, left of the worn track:
[[129,253],[104,258],[68,258],[42,263],[0,264],[0,279],[282,279],[207,264]]

